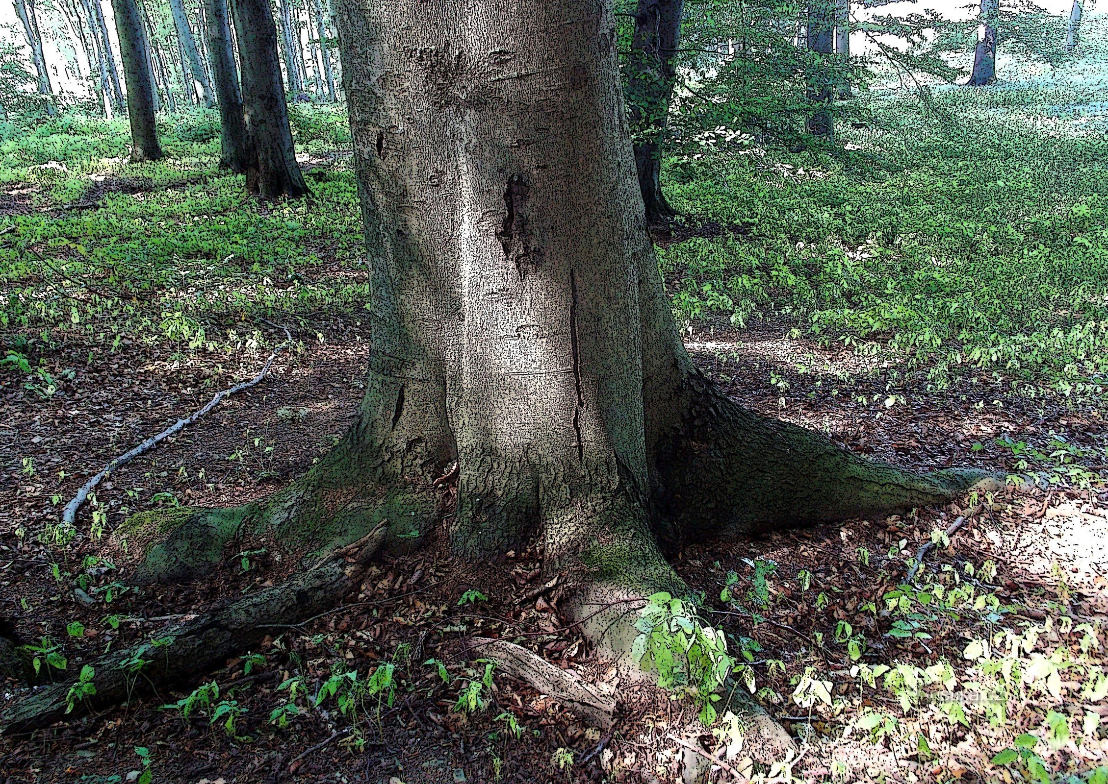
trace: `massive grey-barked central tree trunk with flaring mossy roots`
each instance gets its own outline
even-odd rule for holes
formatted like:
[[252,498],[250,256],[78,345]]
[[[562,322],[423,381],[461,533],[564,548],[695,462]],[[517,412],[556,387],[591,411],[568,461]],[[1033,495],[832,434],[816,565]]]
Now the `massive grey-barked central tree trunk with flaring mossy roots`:
[[[243,42],[257,30],[243,0],[239,17]],[[120,526],[129,581],[203,575],[242,537],[306,565],[382,522],[387,547],[414,547],[449,502],[459,557],[536,537],[564,606],[634,684],[649,677],[630,653],[644,598],[693,597],[665,550],[922,506],[983,478],[871,463],[697,372],[647,235],[608,0],[342,0],[338,30],[371,262],[366,396],[273,497]],[[266,49],[276,63],[275,32]],[[490,654],[521,674],[535,663]],[[780,759],[791,740],[739,694],[721,705],[747,747]],[[578,706],[603,713],[606,698]]]

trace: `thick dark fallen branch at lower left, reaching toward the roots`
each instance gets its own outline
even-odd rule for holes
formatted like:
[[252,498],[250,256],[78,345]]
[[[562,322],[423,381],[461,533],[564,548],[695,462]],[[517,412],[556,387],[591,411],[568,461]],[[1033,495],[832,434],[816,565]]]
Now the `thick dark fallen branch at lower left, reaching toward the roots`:
[[297,572],[279,586],[171,627],[144,644],[100,657],[90,662],[94,693],[72,698],[74,681],[22,693],[0,712],[0,733],[40,729],[70,712],[123,702],[137,689],[197,675],[229,656],[249,650],[265,637],[265,627],[310,618],[358,588],[370,558],[384,544],[386,533],[381,524],[359,540],[357,553],[345,547],[328,561]]

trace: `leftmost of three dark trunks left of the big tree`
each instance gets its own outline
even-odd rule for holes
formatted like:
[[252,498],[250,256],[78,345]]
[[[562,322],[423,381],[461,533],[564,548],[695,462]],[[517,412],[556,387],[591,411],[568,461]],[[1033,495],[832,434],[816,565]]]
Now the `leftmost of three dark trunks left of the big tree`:
[[[93,0],[95,2],[96,0]],[[157,161],[162,146],[154,118],[154,84],[150,44],[136,0],[112,0],[115,32],[120,39],[123,76],[127,84],[127,120],[131,122],[131,161]]]

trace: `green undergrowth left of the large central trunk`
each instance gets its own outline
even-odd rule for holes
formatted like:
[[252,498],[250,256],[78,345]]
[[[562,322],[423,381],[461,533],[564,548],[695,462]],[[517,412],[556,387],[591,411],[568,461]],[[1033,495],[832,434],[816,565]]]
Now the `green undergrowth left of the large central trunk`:
[[126,163],[125,121],[64,116],[2,138],[0,187],[20,205],[0,216],[6,354],[73,338],[109,351],[237,350],[257,345],[260,319],[363,310],[357,184],[336,154],[350,146],[341,112],[296,109],[312,196],[277,205],[217,168],[214,112],[160,125],[166,158],[141,165]]

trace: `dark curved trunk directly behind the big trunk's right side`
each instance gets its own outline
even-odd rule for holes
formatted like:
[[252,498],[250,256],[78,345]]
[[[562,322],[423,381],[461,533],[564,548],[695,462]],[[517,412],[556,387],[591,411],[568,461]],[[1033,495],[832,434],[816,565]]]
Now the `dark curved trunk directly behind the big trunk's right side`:
[[661,143],[669,124],[669,99],[677,81],[684,0],[639,0],[627,58],[627,107],[635,171],[646,219],[677,213],[661,193]]

